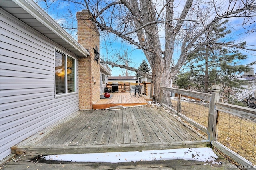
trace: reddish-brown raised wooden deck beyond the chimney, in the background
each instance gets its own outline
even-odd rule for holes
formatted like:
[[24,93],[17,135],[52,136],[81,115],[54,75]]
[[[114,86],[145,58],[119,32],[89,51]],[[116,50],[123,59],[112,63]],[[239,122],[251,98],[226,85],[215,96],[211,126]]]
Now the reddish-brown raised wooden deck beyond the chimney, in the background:
[[149,97],[143,95],[142,97],[131,96],[130,92],[114,92],[110,94],[112,95],[110,99],[100,99],[98,102],[92,104],[92,109],[106,109],[120,105],[124,107],[146,105],[150,100]]

